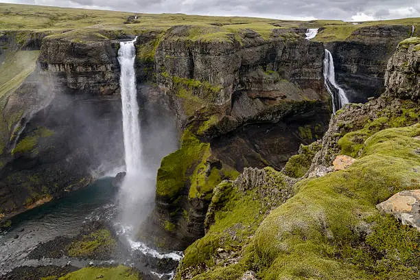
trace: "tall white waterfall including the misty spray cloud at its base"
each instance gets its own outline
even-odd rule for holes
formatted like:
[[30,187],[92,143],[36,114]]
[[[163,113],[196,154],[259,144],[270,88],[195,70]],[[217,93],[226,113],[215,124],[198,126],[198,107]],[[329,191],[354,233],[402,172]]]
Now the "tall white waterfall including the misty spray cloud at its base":
[[[126,177],[119,190],[121,223],[136,230],[154,204],[155,178],[143,163],[139,104],[135,78],[135,40],[121,42],[118,60],[121,67],[121,103],[124,132]],[[131,231],[131,230],[130,230]],[[134,233],[133,233],[134,234]]]

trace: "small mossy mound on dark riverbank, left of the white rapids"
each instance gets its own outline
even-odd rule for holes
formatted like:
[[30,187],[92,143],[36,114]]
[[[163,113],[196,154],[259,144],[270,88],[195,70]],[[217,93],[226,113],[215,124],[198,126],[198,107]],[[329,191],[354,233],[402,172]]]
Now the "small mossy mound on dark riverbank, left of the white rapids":
[[84,235],[81,240],[69,246],[70,257],[89,257],[95,253],[107,252],[115,247],[115,240],[107,229],[100,229]]

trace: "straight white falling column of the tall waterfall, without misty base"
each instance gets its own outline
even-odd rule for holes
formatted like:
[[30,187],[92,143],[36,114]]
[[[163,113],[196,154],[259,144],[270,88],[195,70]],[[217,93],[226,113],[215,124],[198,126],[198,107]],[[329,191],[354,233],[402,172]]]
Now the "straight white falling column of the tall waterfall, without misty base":
[[118,60],[121,66],[119,86],[121,88],[124,149],[128,174],[135,174],[141,170],[139,105],[137,104],[134,68],[136,57],[135,40],[121,42],[118,51]]

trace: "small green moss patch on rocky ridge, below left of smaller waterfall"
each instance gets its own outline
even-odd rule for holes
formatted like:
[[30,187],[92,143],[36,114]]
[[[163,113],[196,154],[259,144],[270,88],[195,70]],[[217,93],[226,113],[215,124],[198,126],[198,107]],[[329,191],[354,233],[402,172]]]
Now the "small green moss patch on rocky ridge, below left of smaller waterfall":
[[285,164],[283,173],[292,178],[303,177],[307,170],[309,170],[312,159],[316,152],[321,148],[320,143],[314,142],[311,145],[301,145],[299,148],[299,154],[292,156]]

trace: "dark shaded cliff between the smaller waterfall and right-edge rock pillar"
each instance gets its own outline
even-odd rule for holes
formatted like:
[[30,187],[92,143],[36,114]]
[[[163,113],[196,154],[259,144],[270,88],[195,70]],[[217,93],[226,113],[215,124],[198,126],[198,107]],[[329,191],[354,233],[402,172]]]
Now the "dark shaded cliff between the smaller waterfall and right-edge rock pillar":
[[334,57],[336,81],[350,102],[366,102],[384,92],[387,62],[401,40],[408,38],[408,25],[360,27],[347,40],[327,43]]

